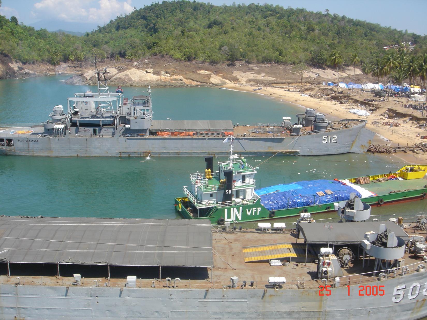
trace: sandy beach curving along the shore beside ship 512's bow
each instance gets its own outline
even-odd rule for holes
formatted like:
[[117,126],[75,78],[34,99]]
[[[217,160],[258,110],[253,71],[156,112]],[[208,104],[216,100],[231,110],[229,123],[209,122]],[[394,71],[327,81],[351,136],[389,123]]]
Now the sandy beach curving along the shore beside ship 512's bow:
[[[347,103],[340,104],[339,101],[334,101],[331,99],[325,98],[313,98],[308,96],[310,93],[309,90],[304,88],[304,93],[299,92],[301,87],[266,87],[263,86],[261,90],[253,91],[256,86],[249,84],[227,84],[223,87],[230,90],[246,91],[257,94],[263,94],[268,97],[272,97],[282,101],[284,103],[293,103],[296,105],[301,105],[305,108],[312,108],[317,112],[327,115],[328,119],[368,119],[366,128],[376,133],[374,141],[372,143],[380,145],[414,145],[415,143],[422,143],[426,140],[421,140],[420,137],[417,137],[417,134],[420,136],[427,135],[427,132],[422,128],[416,128],[417,124],[414,121],[409,120],[409,116],[400,118],[400,119],[387,119],[382,114],[386,112],[389,108],[403,108],[401,107],[402,103],[407,102],[405,98],[392,98],[390,101],[380,102],[379,108],[371,113],[369,116],[357,116],[354,113],[350,113],[350,109],[360,109],[368,110],[365,106],[357,105],[356,103]],[[288,91],[288,89],[290,91]],[[345,89],[348,90],[348,89]],[[348,91],[351,94],[351,90]],[[366,98],[372,98],[372,93],[360,92],[354,90],[351,97],[363,101]],[[403,112],[403,111],[402,111]],[[421,117],[421,112],[405,109],[404,112],[412,113],[415,116]],[[387,121],[393,121],[398,123],[400,126],[393,126],[383,124]],[[389,155],[391,156],[391,155]],[[394,156],[398,157],[403,161],[409,163],[427,163],[427,154],[417,154],[417,153],[404,153],[398,152]]]

